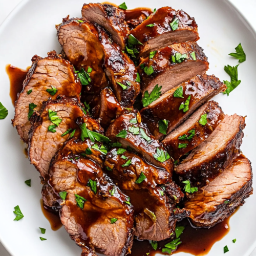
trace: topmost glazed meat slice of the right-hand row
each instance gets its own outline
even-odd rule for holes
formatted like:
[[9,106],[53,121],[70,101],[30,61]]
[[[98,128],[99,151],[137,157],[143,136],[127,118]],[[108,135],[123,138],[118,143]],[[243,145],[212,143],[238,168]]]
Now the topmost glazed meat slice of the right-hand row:
[[[154,24],[153,27],[147,27]],[[171,25],[173,24],[173,25]],[[137,45],[139,56],[149,55],[175,42],[197,41],[199,39],[197,24],[182,10],[162,7],[150,15],[139,26],[131,31],[142,45]]]

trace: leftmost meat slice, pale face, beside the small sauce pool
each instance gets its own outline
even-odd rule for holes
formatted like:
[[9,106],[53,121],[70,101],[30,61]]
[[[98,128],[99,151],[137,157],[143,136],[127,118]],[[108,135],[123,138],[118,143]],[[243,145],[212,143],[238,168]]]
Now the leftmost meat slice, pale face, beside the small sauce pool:
[[23,90],[15,102],[15,116],[12,120],[12,125],[26,143],[29,139],[33,110],[40,111],[42,102],[48,98],[56,99],[58,95],[65,95],[68,98],[79,99],[81,93],[81,84],[73,66],[55,51],[49,52],[46,58],[35,55],[32,61],[23,82]]

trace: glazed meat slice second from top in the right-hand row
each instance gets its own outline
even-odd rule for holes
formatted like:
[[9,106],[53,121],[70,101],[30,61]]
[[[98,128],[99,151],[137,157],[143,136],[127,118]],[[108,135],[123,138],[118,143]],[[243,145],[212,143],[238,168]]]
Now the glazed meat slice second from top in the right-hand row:
[[[151,93],[156,84],[162,94],[188,79],[204,74],[209,63],[196,42],[184,42],[158,50],[154,57],[143,59],[138,67],[141,92]],[[143,69],[142,69],[143,68]]]

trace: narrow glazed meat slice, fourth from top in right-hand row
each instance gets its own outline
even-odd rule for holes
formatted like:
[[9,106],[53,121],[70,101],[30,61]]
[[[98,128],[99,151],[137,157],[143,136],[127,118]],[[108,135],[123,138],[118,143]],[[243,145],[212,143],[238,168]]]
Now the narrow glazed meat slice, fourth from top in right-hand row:
[[177,160],[207,139],[223,118],[224,113],[218,103],[209,101],[162,142],[170,156]]

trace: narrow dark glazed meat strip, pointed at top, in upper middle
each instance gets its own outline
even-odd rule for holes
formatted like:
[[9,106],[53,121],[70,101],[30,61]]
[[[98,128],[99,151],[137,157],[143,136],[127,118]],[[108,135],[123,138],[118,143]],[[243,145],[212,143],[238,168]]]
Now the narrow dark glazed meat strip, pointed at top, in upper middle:
[[137,70],[133,61],[112,41],[110,35],[100,26],[95,26],[104,47],[106,75],[112,83],[117,100],[122,106],[129,108],[140,92],[140,84],[136,82]]

